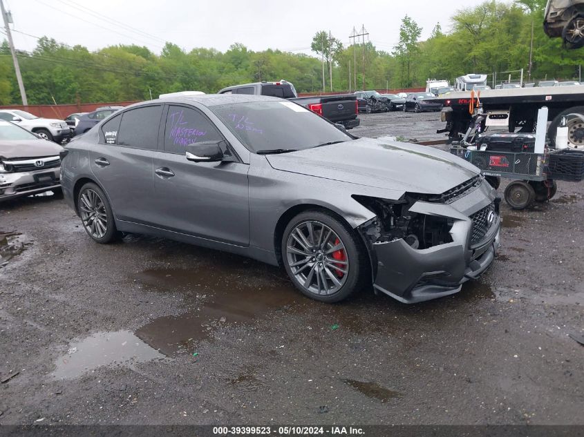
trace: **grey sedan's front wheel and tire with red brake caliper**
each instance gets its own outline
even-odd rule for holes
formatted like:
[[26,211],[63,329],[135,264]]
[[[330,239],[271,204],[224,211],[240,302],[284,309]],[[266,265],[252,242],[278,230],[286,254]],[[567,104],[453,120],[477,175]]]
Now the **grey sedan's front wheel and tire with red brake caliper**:
[[307,211],[286,226],[282,258],[294,285],[309,298],[339,302],[357,291],[366,270],[362,244],[336,217]]

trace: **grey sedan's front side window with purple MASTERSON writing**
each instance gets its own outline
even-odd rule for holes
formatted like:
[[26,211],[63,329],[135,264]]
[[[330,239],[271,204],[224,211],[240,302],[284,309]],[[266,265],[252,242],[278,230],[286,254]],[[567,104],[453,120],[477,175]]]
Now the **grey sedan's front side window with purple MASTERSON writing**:
[[185,153],[189,144],[203,141],[220,141],[223,136],[205,115],[185,106],[169,106],[164,129],[164,151]]

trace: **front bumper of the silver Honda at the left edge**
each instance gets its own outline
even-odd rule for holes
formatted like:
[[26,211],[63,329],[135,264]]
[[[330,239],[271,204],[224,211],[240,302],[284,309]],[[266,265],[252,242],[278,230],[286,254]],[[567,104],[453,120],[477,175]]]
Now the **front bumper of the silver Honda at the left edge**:
[[59,188],[60,174],[59,167],[38,171],[0,173],[0,202]]

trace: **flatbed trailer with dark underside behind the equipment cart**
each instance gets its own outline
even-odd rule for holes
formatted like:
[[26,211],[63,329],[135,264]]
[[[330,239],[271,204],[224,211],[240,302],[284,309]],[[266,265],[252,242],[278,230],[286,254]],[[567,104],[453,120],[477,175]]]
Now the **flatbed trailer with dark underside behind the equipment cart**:
[[435,101],[444,105],[441,116],[446,122],[446,127],[437,133],[448,133],[449,142],[462,138],[478,111],[496,117],[501,124],[507,122],[509,132],[534,132],[538,110],[547,106],[548,122],[552,122],[547,129],[549,144],[554,146],[556,129],[561,119],[567,117],[569,146],[584,150],[584,86],[581,85],[482,90],[474,98],[471,91],[455,91],[436,97]]

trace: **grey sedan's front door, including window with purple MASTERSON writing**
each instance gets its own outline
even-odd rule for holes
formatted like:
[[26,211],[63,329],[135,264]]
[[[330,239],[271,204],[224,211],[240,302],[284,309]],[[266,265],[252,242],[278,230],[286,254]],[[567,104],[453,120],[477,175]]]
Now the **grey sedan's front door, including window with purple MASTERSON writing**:
[[223,139],[191,106],[164,111],[159,151],[153,159],[156,210],[165,229],[230,244],[249,244],[247,171],[239,162],[191,162],[186,146]]

